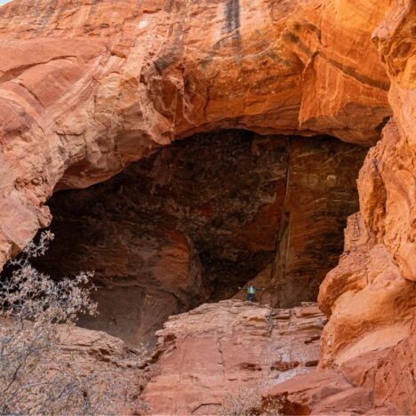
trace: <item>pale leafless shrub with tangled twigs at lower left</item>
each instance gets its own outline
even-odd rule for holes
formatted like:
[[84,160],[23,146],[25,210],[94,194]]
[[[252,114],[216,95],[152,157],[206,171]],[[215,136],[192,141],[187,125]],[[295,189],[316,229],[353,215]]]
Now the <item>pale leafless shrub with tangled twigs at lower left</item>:
[[60,345],[62,324],[93,316],[97,305],[87,287],[91,273],[55,282],[31,265],[52,239],[44,232],[28,244],[0,282],[0,414],[96,414],[124,391],[114,386],[120,378],[88,370]]

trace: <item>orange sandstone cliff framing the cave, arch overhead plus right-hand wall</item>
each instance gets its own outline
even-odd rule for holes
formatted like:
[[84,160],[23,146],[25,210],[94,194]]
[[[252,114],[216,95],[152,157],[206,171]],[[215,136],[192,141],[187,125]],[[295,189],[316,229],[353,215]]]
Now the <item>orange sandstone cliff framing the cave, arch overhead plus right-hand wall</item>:
[[[320,372],[304,377],[322,388],[342,371],[364,388],[354,400],[415,412],[415,15],[412,0],[3,6],[0,263],[49,225],[53,191],[108,180],[172,140],[238,128],[373,146],[382,131],[344,255],[321,286]],[[300,395],[300,379],[282,383],[265,400],[348,408],[346,388],[305,394],[313,380]],[[329,398],[316,409],[316,397]]]

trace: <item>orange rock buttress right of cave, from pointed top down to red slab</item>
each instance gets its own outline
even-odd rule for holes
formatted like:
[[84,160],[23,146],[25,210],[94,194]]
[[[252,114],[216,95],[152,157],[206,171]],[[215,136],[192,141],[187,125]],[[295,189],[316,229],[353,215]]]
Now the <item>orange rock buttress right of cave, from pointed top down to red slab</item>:
[[319,292],[331,317],[324,367],[415,336],[414,174],[409,142],[390,122],[360,170],[360,212],[348,219],[344,253]]

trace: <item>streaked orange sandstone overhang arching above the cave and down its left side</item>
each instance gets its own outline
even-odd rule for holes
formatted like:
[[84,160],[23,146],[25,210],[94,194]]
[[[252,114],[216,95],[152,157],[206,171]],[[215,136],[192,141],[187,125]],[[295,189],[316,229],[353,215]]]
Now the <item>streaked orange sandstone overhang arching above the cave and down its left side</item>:
[[[179,137],[243,128],[373,144],[391,116],[389,79],[371,39],[389,5],[387,0],[4,5],[0,263],[49,224],[45,203],[54,189],[107,180]],[[391,7],[398,22],[410,5]],[[388,51],[387,32],[394,28],[381,28],[380,49]],[[396,72],[411,53],[406,45],[386,52]],[[402,78],[397,101],[408,100],[412,70]]]

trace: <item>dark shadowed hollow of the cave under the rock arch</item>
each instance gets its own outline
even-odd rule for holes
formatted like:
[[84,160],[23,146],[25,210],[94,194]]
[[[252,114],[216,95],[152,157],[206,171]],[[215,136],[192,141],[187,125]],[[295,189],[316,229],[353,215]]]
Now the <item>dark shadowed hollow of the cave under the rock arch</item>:
[[152,343],[168,316],[244,296],[289,308],[316,300],[358,210],[367,149],[330,137],[198,134],[124,172],[49,201],[55,240],[36,266],[94,270],[100,315],[81,326]]

